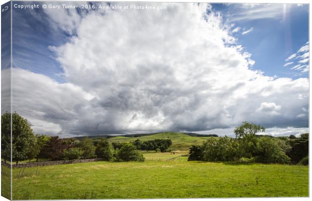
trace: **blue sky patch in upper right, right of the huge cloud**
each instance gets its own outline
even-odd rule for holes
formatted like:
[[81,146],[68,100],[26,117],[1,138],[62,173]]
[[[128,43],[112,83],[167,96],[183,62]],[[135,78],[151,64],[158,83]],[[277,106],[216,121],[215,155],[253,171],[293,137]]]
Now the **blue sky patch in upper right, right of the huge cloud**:
[[[265,75],[279,77],[307,77],[308,72],[298,73],[284,67],[285,59],[296,53],[308,41],[308,5],[272,4],[263,9],[266,4],[252,7],[237,4],[212,4],[221,13],[223,19],[241,27],[234,36],[252,54],[256,61],[254,69],[259,69]],[[252,17],[237,20],[237,14],[255,12]],[[242,29],[253,30],[242,35]]]

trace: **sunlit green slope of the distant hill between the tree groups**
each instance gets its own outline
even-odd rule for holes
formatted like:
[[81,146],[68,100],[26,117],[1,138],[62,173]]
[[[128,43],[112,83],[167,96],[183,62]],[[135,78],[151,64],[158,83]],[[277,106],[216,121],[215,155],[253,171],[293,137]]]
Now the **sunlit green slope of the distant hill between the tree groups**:
[[154,139],[171,139],[172,145],[170,148],[172,150],[189,150],[189,147],[196,144],[202,144],[209,137],[196,137],[189,136],[183,133],[157,133],[153,135],[141,136],[141,137],[124,137],[117,136],[109,138],[110,142],[133,142],[137,139],[142,141],[154,140]]

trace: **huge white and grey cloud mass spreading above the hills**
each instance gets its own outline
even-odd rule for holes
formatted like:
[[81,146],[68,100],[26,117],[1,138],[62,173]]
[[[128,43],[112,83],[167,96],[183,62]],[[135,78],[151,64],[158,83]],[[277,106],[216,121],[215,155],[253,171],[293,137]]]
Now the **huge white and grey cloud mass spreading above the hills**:
[[50,47],[67,83],[15,68],[14,110],[38,132],[66,136],[206,131],[242,121],[308,126],[307,78],[253,70],[251,54],[209,5],[166,6],[85,14],[68,28],[70,41]]

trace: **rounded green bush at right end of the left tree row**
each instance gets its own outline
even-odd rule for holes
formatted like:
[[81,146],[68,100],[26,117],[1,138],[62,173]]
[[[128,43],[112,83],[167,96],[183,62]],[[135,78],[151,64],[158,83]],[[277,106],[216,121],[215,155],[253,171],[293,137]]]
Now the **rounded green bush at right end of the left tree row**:
[[145,160],[143,154],[136,150],[132,143],[123,143],[117,154],[117,160],[120,161],[140,161]]

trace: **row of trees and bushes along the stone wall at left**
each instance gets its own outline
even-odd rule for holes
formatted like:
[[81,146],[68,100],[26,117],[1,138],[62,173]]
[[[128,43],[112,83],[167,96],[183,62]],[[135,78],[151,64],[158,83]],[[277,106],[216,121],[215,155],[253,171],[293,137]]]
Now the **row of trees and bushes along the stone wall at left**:
[[[11,160],[11,114],[1,118],[2,158]],[[32,159],[74,160],[102,158],[106,161],[144,161],[144,157],[132,143],[121,143],[119,148],[102,138],[94,143],[92,139],[60,139],[57,136],[35,135],[26,119],[12,114],[12,160],[16,163]]]

